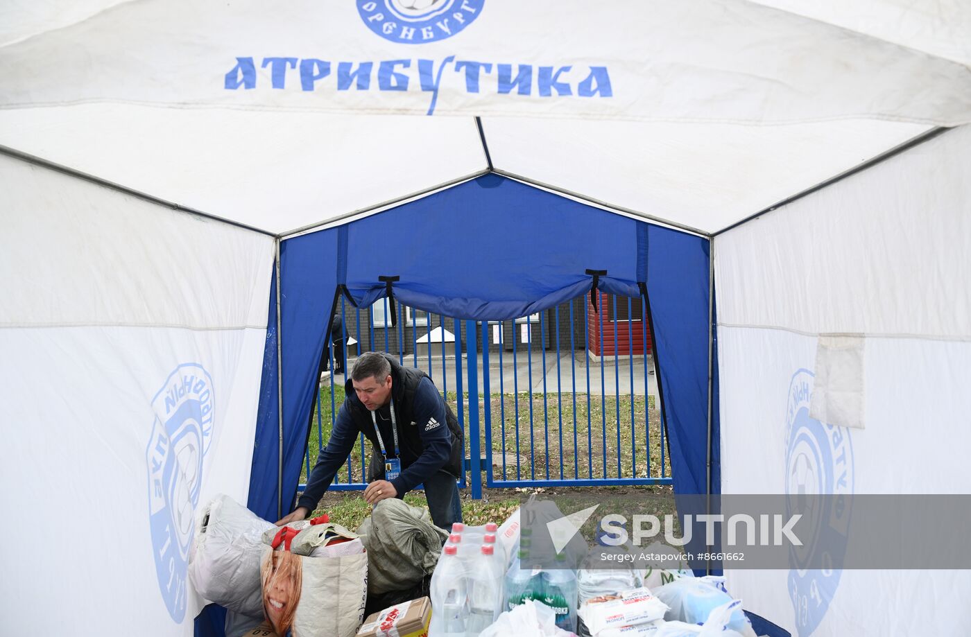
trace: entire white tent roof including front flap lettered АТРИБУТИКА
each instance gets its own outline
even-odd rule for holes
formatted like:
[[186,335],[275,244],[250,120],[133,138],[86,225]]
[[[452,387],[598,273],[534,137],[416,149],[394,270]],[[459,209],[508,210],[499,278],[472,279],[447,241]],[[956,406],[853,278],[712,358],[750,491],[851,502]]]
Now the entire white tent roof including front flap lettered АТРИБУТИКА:
[[489,165],[710,233],[971,120],[971,12],[925,4],[13,3],[0,144],[272,233]]

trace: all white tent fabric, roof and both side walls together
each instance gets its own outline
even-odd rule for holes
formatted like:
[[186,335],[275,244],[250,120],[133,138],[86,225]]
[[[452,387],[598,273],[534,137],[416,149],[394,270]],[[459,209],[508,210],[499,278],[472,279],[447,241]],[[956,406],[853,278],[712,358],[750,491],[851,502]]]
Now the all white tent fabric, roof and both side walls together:
[[[969,492],[971,9],[845,4],[0,6],[6,625],[188,634],[281,242],[489,171],[710,241],[723,493],[785,492],[799,401],[854,492]],[[727,576],[803,637],[971,619],[967,572]]]

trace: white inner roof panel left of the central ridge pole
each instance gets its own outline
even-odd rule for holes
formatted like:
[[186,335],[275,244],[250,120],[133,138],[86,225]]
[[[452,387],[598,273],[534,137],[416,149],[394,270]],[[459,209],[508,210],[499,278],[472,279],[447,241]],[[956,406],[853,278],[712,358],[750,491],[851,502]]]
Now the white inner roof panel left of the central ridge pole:
[[4,111],[0,144],[272,232],[486,166],[471,117],[82,105]]

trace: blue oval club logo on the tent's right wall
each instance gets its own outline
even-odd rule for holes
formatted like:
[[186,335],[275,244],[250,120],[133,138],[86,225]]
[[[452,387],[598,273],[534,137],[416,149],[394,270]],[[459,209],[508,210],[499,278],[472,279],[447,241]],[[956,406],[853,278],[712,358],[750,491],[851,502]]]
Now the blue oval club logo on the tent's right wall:
[[[803,546],[789,548],[788,592],[795,610],[799,637],[808,637],[820,625],[840,584],[850,527],[850,500],[854,490],[854,456],[850,430],[823,424],[809,416],[814,374],[800,369],[788,389],[786,421],[786,514],[802,514],[811,535]],[[820,494],[835,497],[815,498]],[[829,564],[809,569],[810,563]]]

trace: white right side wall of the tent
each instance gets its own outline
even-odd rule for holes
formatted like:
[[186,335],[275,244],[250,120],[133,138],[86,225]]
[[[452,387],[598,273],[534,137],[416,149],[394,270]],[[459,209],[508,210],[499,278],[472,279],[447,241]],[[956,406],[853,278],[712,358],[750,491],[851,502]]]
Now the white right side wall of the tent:
[[[722,492],[971,490],[969,138],[947,132],[716,238]],[[834,334],[862,341],[862,428],[810,415],[820,341]],[[800,428],[817,431],[823,461],[793,451]],[[747,608],[802,636],[947,633],[971,619],[964,572],[726,574]]]

